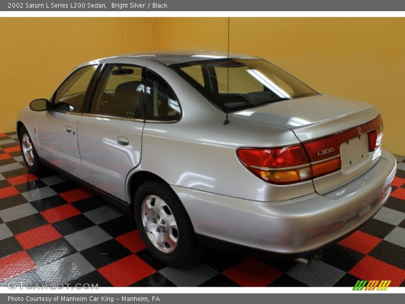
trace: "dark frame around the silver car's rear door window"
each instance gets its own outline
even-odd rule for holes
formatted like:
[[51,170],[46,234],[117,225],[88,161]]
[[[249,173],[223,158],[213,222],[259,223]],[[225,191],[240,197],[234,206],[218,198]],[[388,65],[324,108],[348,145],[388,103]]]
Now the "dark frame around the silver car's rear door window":
[[90,92],[89,92],[89,97],[88,97],[88,102],[85,104],[85,108],[84,108],[84,112],[83,112],[83,116],[88,116],[88,117],[100,117],[100,118],[109,118],[109,119],[115,119],[115,120],[123,120],[123,121],[134,121],[134,122],[145,122],[145,100],[146,100],[146,94],[144,92],[143,97],[142,97],[142,119],[139,118],[130,118],[130,117],[121,117],[121,116],[115,116],[115,115],[108,115],[108,114],[99,114],[99,113],[91,113],[90,109],[92,107],[92,104],[94,102],[94,96],[96,94],[97,88],[100,85],[101,82],[101,77],[105,71],[105,69],[107,68],[107,66],[109,65],[125,65],[125,66],[134,66],[134,67],[140,67],[142,68],[142,72],[141,72],[141,77],[143,78],[143,86],[145,87],[146,85],[146,72],[145,72],[145,66],[142,65],[137,65],[137,64],[131,64],[131,63],[115,63],[115,62],[111,62],[111,63],[103,63],[98,71],[97,74],[97,79],[96,81],[93,83],[92,87],[90,88]]

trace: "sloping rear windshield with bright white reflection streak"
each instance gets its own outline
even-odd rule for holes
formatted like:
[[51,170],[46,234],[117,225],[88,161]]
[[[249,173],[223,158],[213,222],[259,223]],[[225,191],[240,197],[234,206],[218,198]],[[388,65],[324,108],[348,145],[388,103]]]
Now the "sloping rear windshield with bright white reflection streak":
[[224,112],[318,94],[262,59],[215,59],[170,67]]

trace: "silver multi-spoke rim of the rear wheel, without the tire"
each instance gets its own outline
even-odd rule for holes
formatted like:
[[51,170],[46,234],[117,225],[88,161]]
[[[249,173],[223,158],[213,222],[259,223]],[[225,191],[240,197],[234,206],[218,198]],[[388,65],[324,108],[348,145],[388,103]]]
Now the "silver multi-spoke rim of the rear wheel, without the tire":
[[147,196],[141,206],[142,223],[151,243],[160,251],[170,253],[177,247],[177,222],[165,201]]

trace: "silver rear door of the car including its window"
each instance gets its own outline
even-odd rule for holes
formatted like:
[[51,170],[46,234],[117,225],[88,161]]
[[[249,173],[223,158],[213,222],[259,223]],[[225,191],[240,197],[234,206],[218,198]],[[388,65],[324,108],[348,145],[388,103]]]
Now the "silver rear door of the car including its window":
[[77,130],[85,180],[124,201],[126,177],[141,160],[145,61],[111,58],[104,62]]

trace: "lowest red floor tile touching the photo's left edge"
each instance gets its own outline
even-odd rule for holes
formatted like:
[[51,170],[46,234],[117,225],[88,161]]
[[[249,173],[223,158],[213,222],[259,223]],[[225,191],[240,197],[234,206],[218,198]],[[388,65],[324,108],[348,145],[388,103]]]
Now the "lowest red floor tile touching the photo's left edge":
[[0,259],[0,282],[35,269],[35,263],[25,251]]

